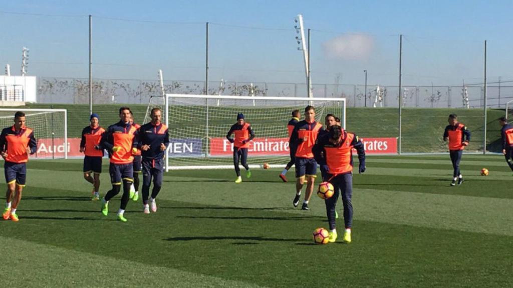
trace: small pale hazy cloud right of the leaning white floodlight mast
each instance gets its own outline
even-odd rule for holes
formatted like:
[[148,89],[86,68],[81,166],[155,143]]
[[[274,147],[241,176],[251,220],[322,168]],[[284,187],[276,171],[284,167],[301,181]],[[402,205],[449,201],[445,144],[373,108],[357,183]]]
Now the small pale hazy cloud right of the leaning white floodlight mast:
[[348,34],[323,43],[324,53],[334,59],[367,59],[374,46],[374,39],[368,35]]

